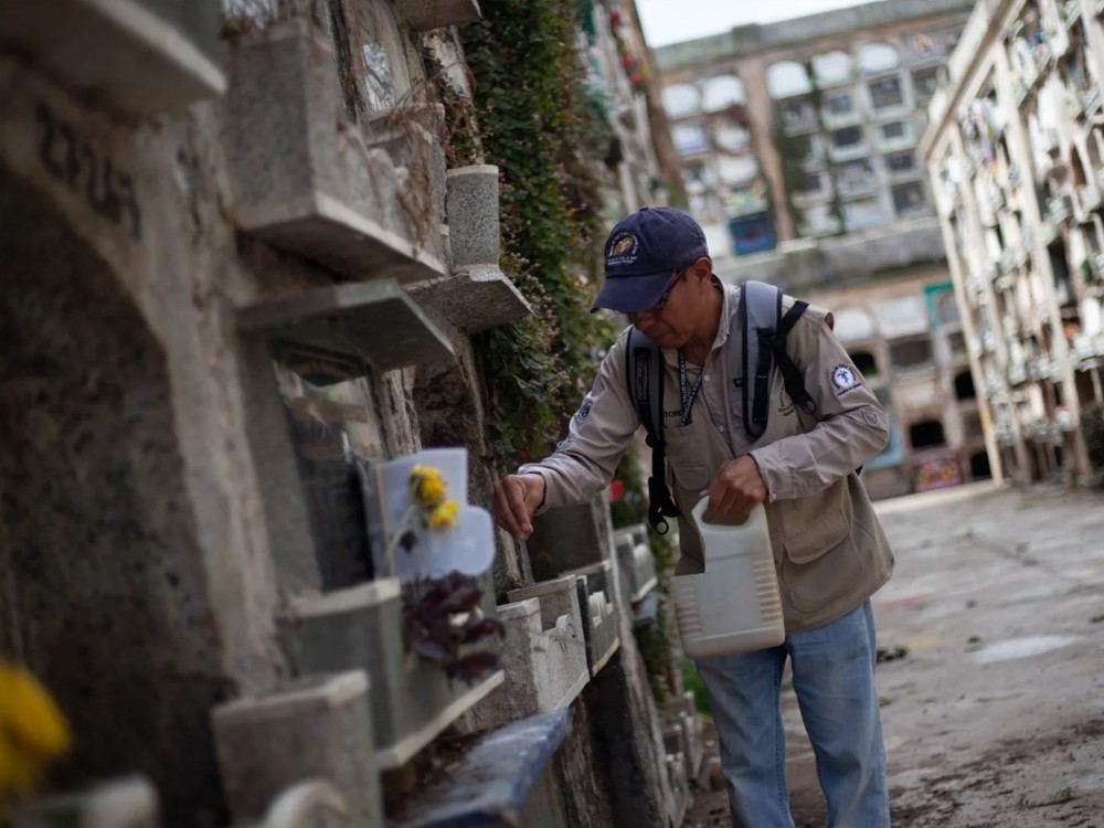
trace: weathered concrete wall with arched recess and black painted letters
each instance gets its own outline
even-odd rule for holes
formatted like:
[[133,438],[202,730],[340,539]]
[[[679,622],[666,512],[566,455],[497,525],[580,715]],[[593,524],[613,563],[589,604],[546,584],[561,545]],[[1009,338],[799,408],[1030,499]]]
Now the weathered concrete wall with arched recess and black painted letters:
[[283,669],[217,129],[119,127],[10,61],[0,86],[9,646],[74,720],[63,778],[141,771],[170,822],[210,819],[209,707]]

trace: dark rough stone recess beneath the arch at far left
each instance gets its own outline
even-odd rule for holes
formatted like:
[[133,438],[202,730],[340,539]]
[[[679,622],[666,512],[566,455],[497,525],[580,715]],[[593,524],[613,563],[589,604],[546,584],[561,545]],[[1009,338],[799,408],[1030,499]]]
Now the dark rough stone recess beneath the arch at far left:
[[[226,696],[162,347],[115,275],[0,171],[0,648],[70,716],[56,782],[148,774],[209,819]],[[206,810],[205,810],[206,809]]]

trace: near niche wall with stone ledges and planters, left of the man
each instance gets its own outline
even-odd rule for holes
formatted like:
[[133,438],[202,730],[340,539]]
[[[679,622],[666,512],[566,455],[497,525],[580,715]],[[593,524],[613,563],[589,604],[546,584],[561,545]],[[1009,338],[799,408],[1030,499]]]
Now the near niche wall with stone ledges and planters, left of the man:
[[[681,822],[692,702],[661,720],[649,694],[630,612],[652,585],[620,599],[604,499],[540,554],[456,528],[454,553],[495,558],[487,615],[519,625],[501,669],[457,678],[403,622],[432,593],[397,577],[383,469],[466,449],[448,497],[490,501],[477,349],[531,312],[499,265],[519,164],[478,148],[466,28],[582,26],[564,60],[616,123],[572,161],[612,212],[656,198],[630,10],[481,6],[0,2],[0,664],[73,733],[13,825]],[[510,30],[514,7],[541,20]],[[475,783],[452,746],[431,772],[461,728],[506,751]]]

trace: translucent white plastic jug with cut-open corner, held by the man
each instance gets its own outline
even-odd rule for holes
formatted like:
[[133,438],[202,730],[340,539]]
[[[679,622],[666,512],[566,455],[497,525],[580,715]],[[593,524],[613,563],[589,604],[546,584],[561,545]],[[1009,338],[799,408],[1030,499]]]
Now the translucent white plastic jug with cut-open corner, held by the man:
[[740,526],[702,521],[709,498],[691,511],[705,571],[671,578],[682,650],[691,658],[726,656],[782,644],[786,629],[774,552],[762,506]]

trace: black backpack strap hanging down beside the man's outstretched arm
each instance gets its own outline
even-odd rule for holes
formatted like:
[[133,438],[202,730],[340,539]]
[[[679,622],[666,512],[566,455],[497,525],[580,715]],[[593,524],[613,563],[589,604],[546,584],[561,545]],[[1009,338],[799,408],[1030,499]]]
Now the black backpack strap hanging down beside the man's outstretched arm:
[[659,534],[670,527],[666,518],[677,518],[679,508],[667,487],[664,453],[664,354],[651,339],[629,328],[625,340],[625,372],[629,395],[651,449],[651,477],[648,478],[648,522]]

